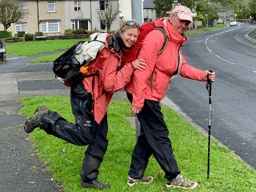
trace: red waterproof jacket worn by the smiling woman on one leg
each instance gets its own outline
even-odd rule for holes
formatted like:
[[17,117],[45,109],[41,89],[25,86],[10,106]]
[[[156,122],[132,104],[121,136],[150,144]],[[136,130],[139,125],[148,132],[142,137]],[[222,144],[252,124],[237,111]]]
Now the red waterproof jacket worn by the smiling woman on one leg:
[[[108,34],[107,39],[111,35],[113,34]],[[112,41],[111,38],[109,41]],[[88,65],[89,68],[86,75],[95,74],[97,71],[99,75],[83,78],[85,89],[92,94],[94,99],[92,112],[98,124],[105,116],[114,92],[125,87],[134,72],[134,67],[131,63],[126,63],[118,71],[118,66],[120,67],[121,65],[122,52],[116,50],[120,49],[117,42],[109,43],[109,41],[105,42],[105,48]],[[111,45],[109,46],[109,44]]]

